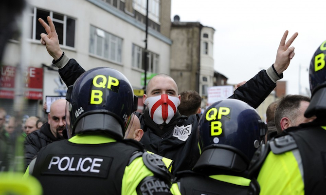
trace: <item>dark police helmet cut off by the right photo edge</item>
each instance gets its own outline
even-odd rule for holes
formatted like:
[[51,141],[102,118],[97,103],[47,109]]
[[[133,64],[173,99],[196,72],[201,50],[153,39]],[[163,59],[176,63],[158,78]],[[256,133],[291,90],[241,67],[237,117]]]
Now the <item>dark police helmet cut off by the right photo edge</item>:
[[311,94],[315,92],[318,85],[326,81],[325,55],[326,41],[318,47],[310,61],[309,82]]

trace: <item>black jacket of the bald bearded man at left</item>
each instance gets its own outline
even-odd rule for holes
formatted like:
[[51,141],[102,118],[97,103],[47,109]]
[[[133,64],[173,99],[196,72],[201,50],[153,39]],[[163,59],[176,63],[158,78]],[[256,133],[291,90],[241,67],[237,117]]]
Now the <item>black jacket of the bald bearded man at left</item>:
[[36,156],[41,150],[41,148],[56,140],[58,139],[52,134],[49,123],[43,124],[39,130],[36,130],[28,135],[24,142],[24,158],[26,168],[31,163],[34,156]]

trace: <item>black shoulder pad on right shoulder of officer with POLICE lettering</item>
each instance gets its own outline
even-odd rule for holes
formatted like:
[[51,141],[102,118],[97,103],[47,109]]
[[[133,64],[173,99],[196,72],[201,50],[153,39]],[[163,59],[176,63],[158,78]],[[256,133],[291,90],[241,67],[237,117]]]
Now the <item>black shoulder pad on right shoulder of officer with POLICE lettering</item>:
[[156,154],[150,154],[147,152],[143,154],[143,161],[145,166],[151,172],[153,172],[155,176],[159,176],[162,177],[163,179],[167,179],[168,181],[171,181],[173,176],[167,170],[162,158],[163,158],[162,156]]

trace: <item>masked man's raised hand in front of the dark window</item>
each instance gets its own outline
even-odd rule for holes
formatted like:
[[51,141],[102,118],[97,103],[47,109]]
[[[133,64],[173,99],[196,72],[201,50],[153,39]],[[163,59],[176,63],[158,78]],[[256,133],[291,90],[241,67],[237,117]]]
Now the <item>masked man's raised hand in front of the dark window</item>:
[[62,50],[59,44],[58,34],[55,31],[54,23],[50,16],[47,17],[49,25],[41,18],[38,21],[42,24],[46,33],[41,34],[41,43],[46,46],[46,50],[54,58],[54,60],[59,59],[62,56]]

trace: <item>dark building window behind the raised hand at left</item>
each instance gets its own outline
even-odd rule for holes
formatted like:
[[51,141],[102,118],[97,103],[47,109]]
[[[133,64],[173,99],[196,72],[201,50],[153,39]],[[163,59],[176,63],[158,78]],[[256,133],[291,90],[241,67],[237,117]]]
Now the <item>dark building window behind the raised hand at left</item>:
[[62,14],[53,11],[41,10],[36,7],[31,9],[30,16],[32,17],[32,37],[33,40],[40,40],[41,33],[46,33],[43,26],[38,22],[38,18],[47,22],[46,17],[50,16],[55,25],[56,33],[58,34],[59,43],[61,45],[74,47],[75,44],[75,20]]

